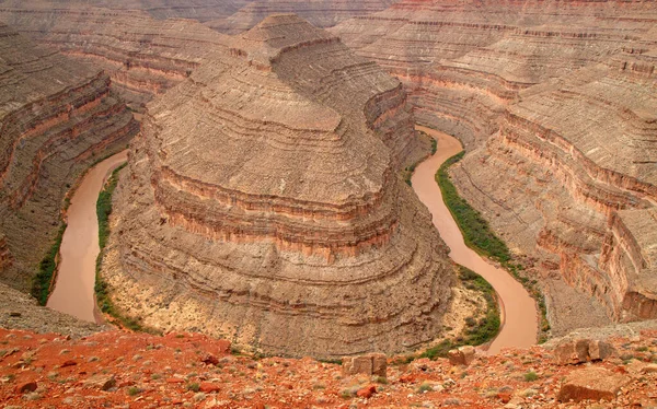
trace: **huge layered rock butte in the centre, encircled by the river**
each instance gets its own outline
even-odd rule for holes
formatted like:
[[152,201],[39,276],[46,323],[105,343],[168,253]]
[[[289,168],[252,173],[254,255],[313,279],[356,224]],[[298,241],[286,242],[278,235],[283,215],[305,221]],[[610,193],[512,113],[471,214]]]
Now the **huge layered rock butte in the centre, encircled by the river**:
[[114,302],[276,354],[434,339],[452,269],[396,175],[408,110],[397,80],[295,15],[235,37],[148,107],[103,262]]

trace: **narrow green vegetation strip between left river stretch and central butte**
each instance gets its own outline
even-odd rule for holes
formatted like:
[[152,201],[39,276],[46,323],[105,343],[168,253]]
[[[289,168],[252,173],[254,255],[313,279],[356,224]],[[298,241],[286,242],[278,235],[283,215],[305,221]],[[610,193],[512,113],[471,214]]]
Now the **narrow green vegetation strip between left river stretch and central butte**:
[[118,183],[118,172],[123,170],[126,165],[123,164],[118,166],[110,176],[110,179],[105,184],[103,190],[101,190],[99,195],[99,200],[96,201],[96,215],[99,218],[99,246],[101,247],[101,253],[96,258],[96,272],[95,272],[95,295],[99,308],[101,311],[120,323],[124,327],[131,329],[134,331],[143,331],[158,334],[159,331],[143,327],[138,319],[126,317],[123,315],[112,303],[108,294],[107,283],[101,277],[101,264],[103,260],[105,245],[107,244],[107,237],[110,236],[110,214],[112,214],[112,195],[114,194],[114,189],[116,188],[116,184]]

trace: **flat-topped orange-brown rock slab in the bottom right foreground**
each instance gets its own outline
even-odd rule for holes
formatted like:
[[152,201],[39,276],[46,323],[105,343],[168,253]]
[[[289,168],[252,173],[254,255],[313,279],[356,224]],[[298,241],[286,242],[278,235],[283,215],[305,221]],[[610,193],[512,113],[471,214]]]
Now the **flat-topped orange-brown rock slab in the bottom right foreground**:
[[629,384],[630,381],[630,377],[603,367],[586,367],[574,371],[562,385],[558,400],[612,400],[615,399],[621,387]]

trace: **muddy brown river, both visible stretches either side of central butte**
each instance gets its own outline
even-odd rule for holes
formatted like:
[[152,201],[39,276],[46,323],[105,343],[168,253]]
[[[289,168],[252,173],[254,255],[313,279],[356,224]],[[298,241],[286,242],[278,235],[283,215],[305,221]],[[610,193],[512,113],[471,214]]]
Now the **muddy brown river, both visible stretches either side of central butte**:
[[[435,180],[438,167],[461,151],[460,142],[434,129],[417,127],[438,141],[437,153],[419,164],[413,175],[413,188],[434,215],[434,224],[447,243],[450,257],[476,271],[495,289],[503,312],[503,327],[488,351],[505,347],[529,347],[537,342],[538,313],[534,300],[507,271],[496,268],[465,246],[461,231],[442,201]],[[83,177],[68,209],[68,226],[59,250],[57,283],[48,300],[53,309],[88,322],[101,318],[95,309],[95,260],[99,255],[99,223],[95,203],[108,175],[127,160],[127,151],[117,153],[95,165]]]

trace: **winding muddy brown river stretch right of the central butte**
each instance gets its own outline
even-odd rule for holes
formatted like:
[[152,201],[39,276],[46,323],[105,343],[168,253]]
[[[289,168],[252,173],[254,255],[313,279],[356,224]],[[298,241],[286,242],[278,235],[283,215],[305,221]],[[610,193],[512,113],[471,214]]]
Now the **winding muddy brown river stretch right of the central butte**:
[[461,143],[453,137],[430,128],[417,126],[438,141],[436,154],[419,164],[411,182],[419,199],[434,215],[434,225],[450,248],[449,256],[458,264],[482,276],[498,294],[502,314],[502,330],[488,348],[496,353],[506,347],[529,347],[537,343],[538,311],[534,300],[507,271],[496,268],[463,242],[463,235],[442,201],[435,175],[440,165],[459,153]]

